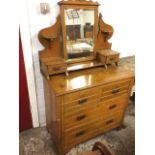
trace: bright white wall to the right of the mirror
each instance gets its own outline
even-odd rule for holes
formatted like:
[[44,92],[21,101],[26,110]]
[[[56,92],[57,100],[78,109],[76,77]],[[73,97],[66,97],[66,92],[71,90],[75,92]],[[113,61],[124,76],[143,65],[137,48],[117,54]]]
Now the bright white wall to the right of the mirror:
[[138,11],[134,0],[98,0],[100,11],[106,23],[114,28],[111,38],[112,49],[121,52],[121,57],[135,55],[136,36],[135,14]]

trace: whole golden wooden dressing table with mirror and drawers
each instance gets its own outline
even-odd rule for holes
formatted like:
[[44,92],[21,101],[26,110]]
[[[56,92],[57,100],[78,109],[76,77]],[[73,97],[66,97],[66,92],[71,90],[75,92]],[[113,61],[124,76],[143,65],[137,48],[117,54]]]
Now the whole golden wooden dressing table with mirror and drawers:
[[65,0],[58,5],[56,23],[42,29],[38,38],[45,47],[39,60],[47,129],[58,154],[64,155],[121,127],[134,73],[115,65],[119,52],[108,41],[113,28],[98,14],[99,3]]

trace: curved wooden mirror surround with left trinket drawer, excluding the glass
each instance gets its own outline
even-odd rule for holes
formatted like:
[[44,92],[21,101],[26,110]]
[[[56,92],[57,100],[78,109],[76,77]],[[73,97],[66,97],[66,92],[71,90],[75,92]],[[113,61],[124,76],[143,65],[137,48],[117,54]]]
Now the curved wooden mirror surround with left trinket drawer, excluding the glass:
[[[112,37],[114,29],[104,22],[101,13],[98,15],[100,4],[92,0],[62,0],[58,2],[58,5],[60,14],[57,16],[55,24],[41,29],[38,33],[38,39],[44,47],[39,51],[41,73],[45,78],[50,79],[51,75],[66,73],[68,76],[71,71],[105,65],[99,59],[98,54],[104,49],[111,49],[112,43],[108,40]],[[94,56],[91,58],[81,57],[67,61],[64,9],[68,8],[95,10]],[[58,70],[55,70],[56,66],[58,66]]]

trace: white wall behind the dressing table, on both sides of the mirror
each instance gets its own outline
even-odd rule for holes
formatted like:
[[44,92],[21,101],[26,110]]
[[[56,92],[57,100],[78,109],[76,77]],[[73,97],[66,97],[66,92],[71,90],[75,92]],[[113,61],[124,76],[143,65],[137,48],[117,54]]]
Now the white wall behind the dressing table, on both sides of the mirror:
[[[25,3],[25,11],[28,17],[28,29],[31,39],[32,60],[34,67],[36,97],[38,103],[38,113],[40,125],[45,125],[45,107],[43,81],[40,74],[38,51],[43,49],[37,39],[39,30],[51,26],[55,23],[56,16],[59,13],[57,2],[59,0],[22,0]],[[39,10],[41,2],[50,4],[50,13],[42,15]],[[102,12],[103,19],[106,23],[114,27],[114,35],[111,38],[112,49],[121,52],[121,57],[134,55],[134,12],[131,11],[133,0],[98,0],[102,4],[99,11]],[[24,10],[23,10],[24,11]],[[23,17],[24,18],[24,17]]]

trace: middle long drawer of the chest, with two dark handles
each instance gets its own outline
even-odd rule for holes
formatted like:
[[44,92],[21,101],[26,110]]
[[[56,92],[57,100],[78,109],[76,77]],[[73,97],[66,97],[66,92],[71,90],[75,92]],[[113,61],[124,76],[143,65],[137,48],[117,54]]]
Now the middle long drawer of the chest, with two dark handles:
[[127,105],[127,94],[115,97],[104,102],[95,104],[88,109],[82,109],[80,111],[73,111],[64,114],[64,126],[65,129],[72,128],[78,125],[82,125],[88,121],[97,118],[108,118],[109,115],[113,115],[118,111],[123,111]]

